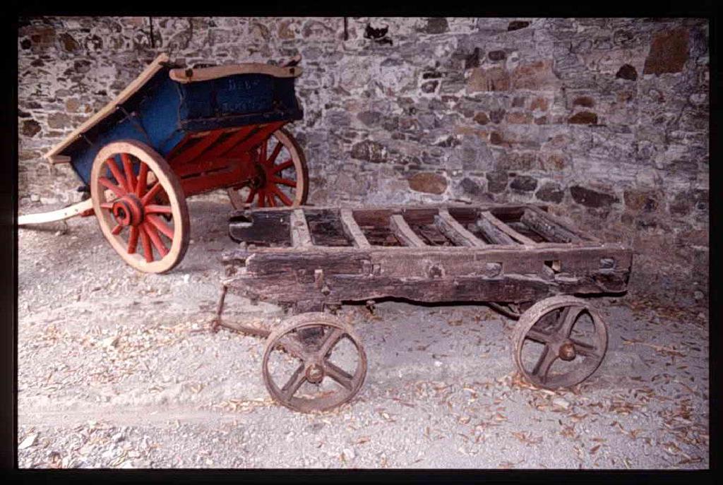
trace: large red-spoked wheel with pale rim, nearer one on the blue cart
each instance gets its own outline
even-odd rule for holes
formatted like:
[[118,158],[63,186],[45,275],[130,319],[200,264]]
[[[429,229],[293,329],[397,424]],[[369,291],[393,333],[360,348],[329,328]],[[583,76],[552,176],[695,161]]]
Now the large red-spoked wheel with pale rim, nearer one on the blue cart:
[[93,161],[90,197],[103,235],[135,269],[166,272],[183,259],[190,226],[186,197],[153,148],[136,140],[108,143]]

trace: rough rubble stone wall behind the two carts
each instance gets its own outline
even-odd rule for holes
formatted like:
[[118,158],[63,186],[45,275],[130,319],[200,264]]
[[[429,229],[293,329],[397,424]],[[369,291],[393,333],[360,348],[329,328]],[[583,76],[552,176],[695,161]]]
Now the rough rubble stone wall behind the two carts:
[[161,51],[188,66],[301,53],[309,202],[545,202],[633,244],[633,291],[705,301],[708,37],[696,19],[27,19],[21,207],[79,197],[40,155]]

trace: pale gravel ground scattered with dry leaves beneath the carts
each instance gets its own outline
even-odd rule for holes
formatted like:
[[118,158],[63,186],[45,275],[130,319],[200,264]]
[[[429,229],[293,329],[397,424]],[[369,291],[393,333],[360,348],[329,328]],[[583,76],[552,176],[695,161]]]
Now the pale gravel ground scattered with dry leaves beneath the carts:
[[[168,275],[124,265],[93,218],[20,230],[20,468],[709,467],[706,309],[596,299],[602,366],[549,392],[515,375],[515,322],[487,306],[344,306],[364,387],[296,413],[268,396],[262,340],[208,332],[229,206],[189,207],[193,242]],[[226,308],[269,328],[283,317],[233,295]]]

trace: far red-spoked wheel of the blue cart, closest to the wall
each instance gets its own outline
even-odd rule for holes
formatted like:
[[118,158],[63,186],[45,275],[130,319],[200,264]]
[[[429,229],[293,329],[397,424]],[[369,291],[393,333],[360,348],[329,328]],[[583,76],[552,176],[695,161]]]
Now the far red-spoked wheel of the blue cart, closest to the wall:
[[244,186],[230,187],[234,209],[304,205],[309,195],[309,169],[304,150],[286,129],[273,132],[258,148],[257,176]]

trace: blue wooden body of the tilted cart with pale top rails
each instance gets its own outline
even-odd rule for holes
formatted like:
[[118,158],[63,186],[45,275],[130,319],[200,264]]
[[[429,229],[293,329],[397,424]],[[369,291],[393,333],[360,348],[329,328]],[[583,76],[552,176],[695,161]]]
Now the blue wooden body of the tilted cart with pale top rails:
[[159,65],[142,74],[132,93],[109,103],[102,117],[46,156],[69,157],[87,184],[95,155],[116,140],[143,142],[166,158],[189,134],[278,122],[283,126],[303,117],[294,94],[295,77],[248,72],[177,82],[170,71],[171,66]]

